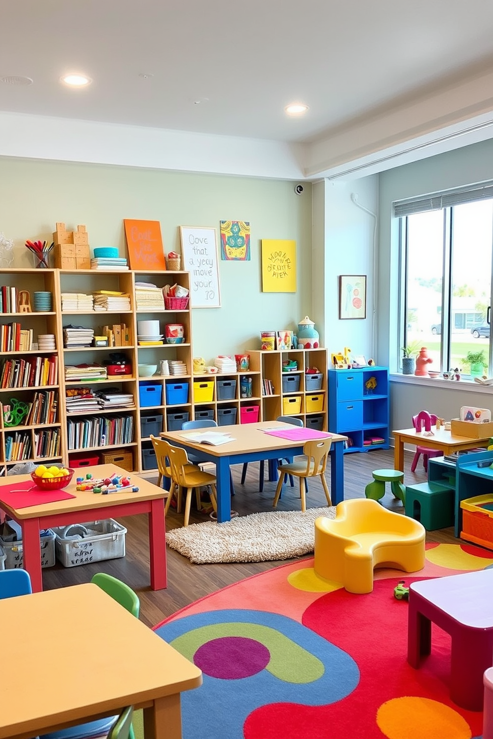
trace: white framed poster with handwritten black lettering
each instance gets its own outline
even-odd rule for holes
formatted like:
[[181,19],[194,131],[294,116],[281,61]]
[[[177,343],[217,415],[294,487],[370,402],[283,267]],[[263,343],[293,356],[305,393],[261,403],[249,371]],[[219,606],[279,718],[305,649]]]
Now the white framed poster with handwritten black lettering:
[[219,308],[221,293],[216,229],[180,226],[183,269],[190,273],[192,308]]

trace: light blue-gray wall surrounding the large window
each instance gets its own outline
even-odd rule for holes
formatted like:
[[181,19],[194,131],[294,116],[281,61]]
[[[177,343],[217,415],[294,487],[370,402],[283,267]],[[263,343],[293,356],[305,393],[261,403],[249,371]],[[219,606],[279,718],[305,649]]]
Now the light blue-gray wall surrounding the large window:
[[[378,361],[397,367],[398,344],[398,232],[392,202],[493,179],[493,140],[438,154],[419,162],[390,169],[378,176]],[[474,258],[474,254],[472,254]],[[478,269],[482,265],[477,265]],[[459,384],[426,381],[420,384],[392,382],[391,423],[408,428],[411,415],[429,409],[444,418],[458,416],[460,406],[472,404],[493,410],[492,391],[472,392]]]

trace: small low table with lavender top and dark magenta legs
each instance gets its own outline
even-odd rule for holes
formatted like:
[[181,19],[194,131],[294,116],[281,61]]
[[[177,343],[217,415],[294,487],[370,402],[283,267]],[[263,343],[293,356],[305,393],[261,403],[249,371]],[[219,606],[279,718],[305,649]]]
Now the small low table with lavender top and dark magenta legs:
[[432,650],[432,621],[452,637],[450,698],[483,710],[483,673],[493,664],[493,570],[413,582],[407,661],[418,669]]

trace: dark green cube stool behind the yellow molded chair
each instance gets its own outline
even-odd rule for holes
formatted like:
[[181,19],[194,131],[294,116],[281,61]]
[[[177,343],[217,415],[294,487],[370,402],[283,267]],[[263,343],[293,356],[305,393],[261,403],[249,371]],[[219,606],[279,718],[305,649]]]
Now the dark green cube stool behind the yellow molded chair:
[[406,488],[406,515],[421,521],[426,531],[453,526],[455,488],[441,483],[419,483]]

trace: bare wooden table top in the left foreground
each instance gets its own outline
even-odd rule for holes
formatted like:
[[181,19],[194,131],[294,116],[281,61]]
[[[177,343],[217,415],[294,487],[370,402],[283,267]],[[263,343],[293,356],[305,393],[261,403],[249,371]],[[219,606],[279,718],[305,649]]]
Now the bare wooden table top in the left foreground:
[[0,739],[202,684],[198,667],[91,583],[0,600],[0,633],[11,647]]

